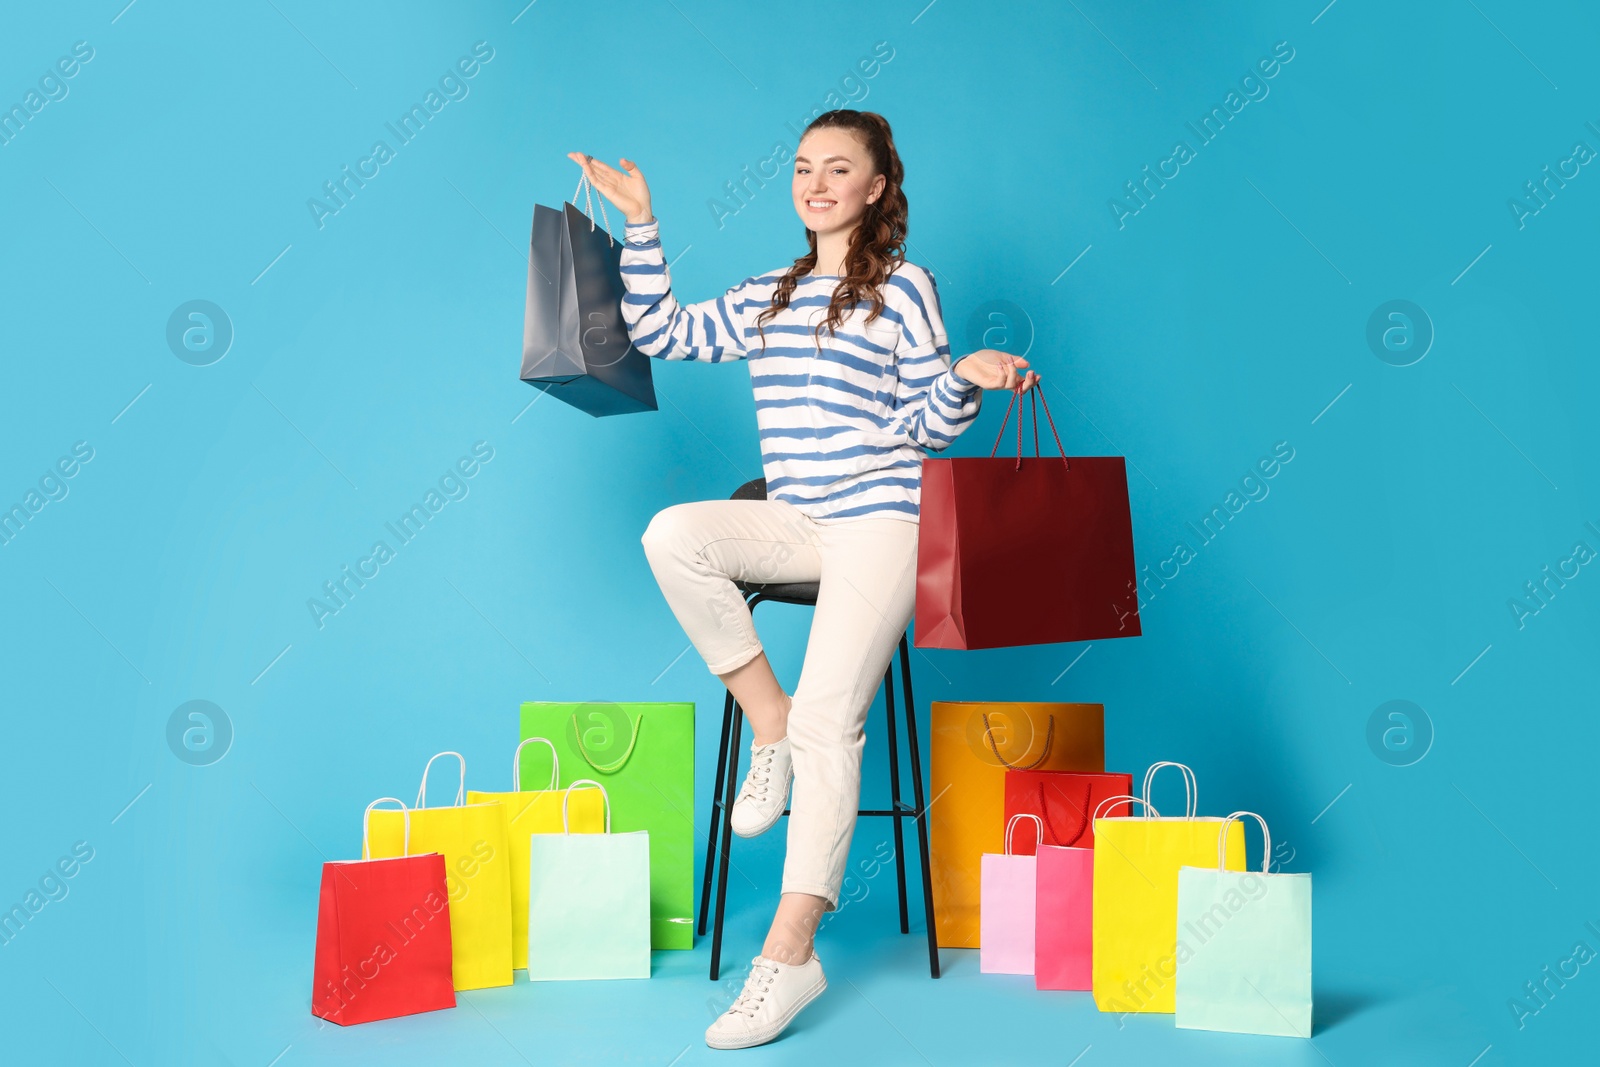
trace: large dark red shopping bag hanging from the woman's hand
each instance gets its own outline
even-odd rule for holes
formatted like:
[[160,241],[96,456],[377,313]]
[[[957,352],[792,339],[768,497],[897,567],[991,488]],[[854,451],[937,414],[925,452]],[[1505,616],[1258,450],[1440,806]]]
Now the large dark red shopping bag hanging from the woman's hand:
[[[1029,390],[1030,397],[1038,387]],[[923,459],[917,648],[1011,648],[1139,635],[1122,456]],[[1011,418],[1006,406],[1006,421]],[[1056,421],[1045,403],[1050,432]],[[1005,421],[1000,422],[1005,435]],[[995,438],[1000,448],[1000,437]]]

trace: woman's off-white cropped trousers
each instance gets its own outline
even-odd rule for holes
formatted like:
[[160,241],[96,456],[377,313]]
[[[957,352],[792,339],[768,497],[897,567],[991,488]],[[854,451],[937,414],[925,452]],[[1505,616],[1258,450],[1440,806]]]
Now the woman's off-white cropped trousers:
[[[861,797],[862,728],[917,600],[915,522],[819,523],[786,501],[696,501],[640,539],[667,605],[712,673],[762,651],[733,585],[819,582],[789,712],[795,784],[784,893],[838,905]],[[733,753],[738,758],[739,753]]]

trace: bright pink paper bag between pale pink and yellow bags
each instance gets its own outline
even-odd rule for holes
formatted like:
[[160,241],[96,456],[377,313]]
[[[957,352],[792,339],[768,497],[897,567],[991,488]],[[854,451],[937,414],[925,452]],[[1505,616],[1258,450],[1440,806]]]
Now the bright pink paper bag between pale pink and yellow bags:
[[[1107,797],[1094,806],[1125,805]],[[1040,845],[1034,864],[1034,987],[1091,989],[1094,944],[1094,849]]]

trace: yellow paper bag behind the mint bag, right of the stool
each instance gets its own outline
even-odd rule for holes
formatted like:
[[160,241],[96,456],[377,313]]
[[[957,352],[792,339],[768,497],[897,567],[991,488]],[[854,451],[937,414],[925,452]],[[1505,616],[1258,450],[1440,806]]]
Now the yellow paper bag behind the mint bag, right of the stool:
[[[1184,774],[1186,814],[1163,819],[1150,806],[1150,782],[1163,766]],[[1197,817],[1195,774],[1182,763],[1155,763],[1144,774],[1144,797],[1115,797],[1144,805],[1141,816],[1101,819],[1094,814],[1094,920],[1091,984],[1101,1011],[1166,1011],[1174,1008],[1178,965],[1187,945],[1178,941],[1178,869],[1245,869],[1245,829],[1227,819]],[[1227,825],[1226,851],[1219,848]]]

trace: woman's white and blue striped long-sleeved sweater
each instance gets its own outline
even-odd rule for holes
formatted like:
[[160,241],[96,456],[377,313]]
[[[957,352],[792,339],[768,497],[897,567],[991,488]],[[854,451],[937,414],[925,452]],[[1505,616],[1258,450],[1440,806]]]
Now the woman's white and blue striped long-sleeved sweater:
[[768,499],[818,522],[917,522],[922,459],[942,451],[973,419],[982,389],[950,366],[933,275],[901,262],[883,285],[885,307],[866,323],[858,304],[821,347],[837,275],[806,275],[789,307],[762,331],[784,270],[746,278],[722,296],[682,306],[661,250],[658,221],[627,224],[622,317],[645,355],[664,360],[749,360]]

